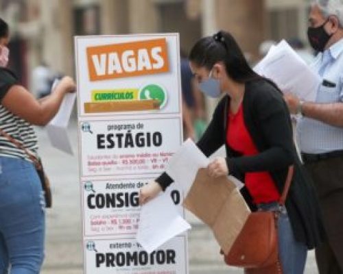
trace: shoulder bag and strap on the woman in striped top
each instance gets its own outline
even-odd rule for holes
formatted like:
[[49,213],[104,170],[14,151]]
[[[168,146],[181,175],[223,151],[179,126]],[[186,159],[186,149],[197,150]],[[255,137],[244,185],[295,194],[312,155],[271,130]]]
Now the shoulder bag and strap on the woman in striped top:
[[44,190],[45,207],[51,208],[52,207],[52,195],[51,195],[50,181],[44,172],[43,164],[42,164],[40,158],[33,155],[32,152],[30,152],[28,149],[26,149],[21,144],[21,142],[12,138],[12,136],[10,136],[10,134],[8,134],[7,132],[4,132],[3,129],[0,129],[0,134],[5,136],[5,138],[8,138],[8,140],[10,142],[12,142],[16,147],[18,147],[19,149],[22,149],[27,154],[29,159],[32,160],[32,162],[34,163],[34,166],[36,167],[36,171],[37,171],[38,177],[40,179],[40,184],[42,185],[42,188]]

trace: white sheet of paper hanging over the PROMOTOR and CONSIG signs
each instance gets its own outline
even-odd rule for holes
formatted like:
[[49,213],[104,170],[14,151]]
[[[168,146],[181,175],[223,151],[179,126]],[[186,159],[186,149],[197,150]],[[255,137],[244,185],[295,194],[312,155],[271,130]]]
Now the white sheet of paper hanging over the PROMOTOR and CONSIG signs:
[[136,239],[151,253],[190,228],[191,225],[178,214],[170,196],[163,193],[142,206]]

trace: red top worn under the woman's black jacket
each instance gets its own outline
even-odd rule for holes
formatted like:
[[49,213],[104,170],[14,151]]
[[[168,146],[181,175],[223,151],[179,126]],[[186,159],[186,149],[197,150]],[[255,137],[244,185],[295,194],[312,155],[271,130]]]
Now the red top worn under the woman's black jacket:
[[[237,114],[228,114],[228,131],[226,132],[228,146],[244,156],[256,155],[257,150],[246,124],[244,123],[243,105],[239,106]],[[270,203],[279,201],[280,195],[274,180],[267,171],[247,172],[244,182],[255,203]]]

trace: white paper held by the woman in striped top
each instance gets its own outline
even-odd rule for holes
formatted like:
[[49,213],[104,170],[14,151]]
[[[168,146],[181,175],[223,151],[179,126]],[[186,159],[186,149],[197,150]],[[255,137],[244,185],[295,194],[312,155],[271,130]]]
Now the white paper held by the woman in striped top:
[[[59,80],[56,79],[52,85],[51,92],[54,92]],[[45,127],[49,136],[51,145],[56,149],[60,149],[66,153],[73,155],[73,149],[71,149],[71,142],[67,134],[67,127],[71,112],[73,111],[73,105],[75,103],[76,92],[68,93],[64,95],[60,109],[53,119]]]

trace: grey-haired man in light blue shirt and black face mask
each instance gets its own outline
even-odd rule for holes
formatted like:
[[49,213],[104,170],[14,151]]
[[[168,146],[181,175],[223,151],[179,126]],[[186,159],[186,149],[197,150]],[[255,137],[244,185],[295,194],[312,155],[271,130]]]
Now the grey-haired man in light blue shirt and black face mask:
[[327,231],[316,249],[320,274],[343,273],[343,0],[316,0],[307,30],[318,51],[311,65],[322,78],[315,102],[285,95],[290,112],[300,114],[297,142],[311,175]]

